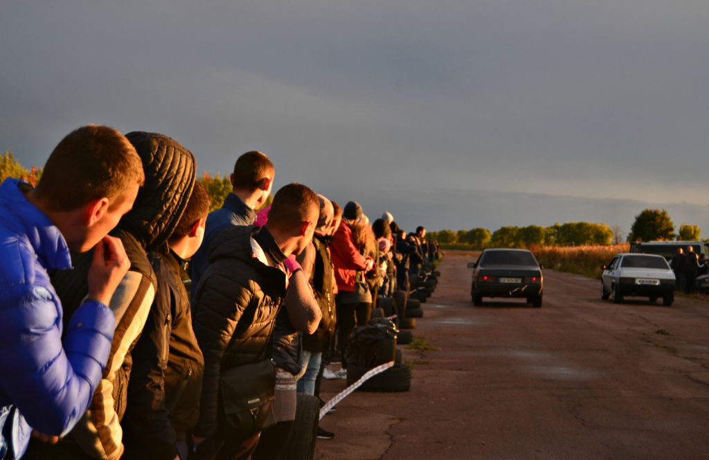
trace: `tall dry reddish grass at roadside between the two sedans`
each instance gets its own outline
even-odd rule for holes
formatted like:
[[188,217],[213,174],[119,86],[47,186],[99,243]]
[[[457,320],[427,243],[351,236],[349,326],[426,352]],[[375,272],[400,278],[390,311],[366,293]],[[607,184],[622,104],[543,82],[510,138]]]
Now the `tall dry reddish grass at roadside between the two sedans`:
[[630,251],[630,243],[609,246],[533,246],[537,261],[545,268],[601,278],[603,264],[618,253]]

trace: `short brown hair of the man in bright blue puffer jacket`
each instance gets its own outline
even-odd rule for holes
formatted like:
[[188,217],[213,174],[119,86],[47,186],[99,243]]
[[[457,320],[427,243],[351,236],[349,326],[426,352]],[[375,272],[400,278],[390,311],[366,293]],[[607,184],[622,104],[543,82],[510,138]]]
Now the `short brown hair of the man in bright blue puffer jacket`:
[[93,199],[123,203],[132,185],[143,185],[143,162],[123,134],[109,126],[88,125],[67,134],[52,150],[37,197],[54,211],[72,211]]

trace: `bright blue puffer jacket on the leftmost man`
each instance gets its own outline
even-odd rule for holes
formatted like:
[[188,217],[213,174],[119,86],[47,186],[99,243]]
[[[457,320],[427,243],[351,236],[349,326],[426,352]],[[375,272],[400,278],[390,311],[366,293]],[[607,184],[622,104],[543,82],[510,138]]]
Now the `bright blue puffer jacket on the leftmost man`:
[[116,319],[86,300],[62,341],[62,304],[48,272],[70,268],[52,221],[6,179],[0,185],[0,458],[20,458],[32,429],[69,432],[101,380]]

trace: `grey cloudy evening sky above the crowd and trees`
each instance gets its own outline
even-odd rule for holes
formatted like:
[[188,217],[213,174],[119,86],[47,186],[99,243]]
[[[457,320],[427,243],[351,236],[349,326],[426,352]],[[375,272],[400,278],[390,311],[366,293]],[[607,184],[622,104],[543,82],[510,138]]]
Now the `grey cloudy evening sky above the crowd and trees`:
[[0,149],[84,124],[166,134],[199,172],[261,150],[407,230],[643,209],[709,237],[709,2],[11,1]]

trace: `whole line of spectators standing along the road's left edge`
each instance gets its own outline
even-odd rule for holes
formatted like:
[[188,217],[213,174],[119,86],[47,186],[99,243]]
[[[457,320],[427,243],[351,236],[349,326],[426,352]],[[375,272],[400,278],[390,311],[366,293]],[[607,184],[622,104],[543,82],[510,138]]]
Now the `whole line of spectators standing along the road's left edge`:
[[1,460],[281,456],[296,393],[437,246],[297,183],[264,207],[274,173],[240,155],[210,213],[177,141],[89,125],[0,185]]

